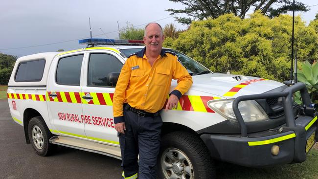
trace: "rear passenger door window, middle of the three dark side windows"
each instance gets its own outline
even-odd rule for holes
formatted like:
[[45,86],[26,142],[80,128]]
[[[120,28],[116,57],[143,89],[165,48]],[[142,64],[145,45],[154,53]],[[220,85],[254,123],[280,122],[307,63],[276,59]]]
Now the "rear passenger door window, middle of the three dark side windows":
[[57,84],[80,86],[83,56],[84,55],[76,55],[64,57],[59,60],[56,70]]

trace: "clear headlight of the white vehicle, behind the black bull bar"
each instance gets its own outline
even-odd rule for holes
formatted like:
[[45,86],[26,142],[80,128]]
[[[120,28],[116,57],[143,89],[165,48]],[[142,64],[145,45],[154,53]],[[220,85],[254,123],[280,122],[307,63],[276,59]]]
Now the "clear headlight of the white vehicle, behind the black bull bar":
[[[233,101],[234,99],[210,101],[207,105],[228,120],[237,121],[232,108]],[[254,100],[241,101],[238,108],[245,122],[261,121],[269,118],[263,108]]]

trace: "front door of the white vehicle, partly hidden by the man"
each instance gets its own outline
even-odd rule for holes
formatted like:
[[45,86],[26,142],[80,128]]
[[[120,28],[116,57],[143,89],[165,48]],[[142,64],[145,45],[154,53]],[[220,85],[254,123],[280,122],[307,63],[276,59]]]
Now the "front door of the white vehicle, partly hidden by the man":
[[109,50],[91,51],[87,54],[82,93],[85,133],[87,138],[118,145],[114,129],[113,95],[115,87],[108,84],[112,72],[120,72],[124,60],[116,52]]

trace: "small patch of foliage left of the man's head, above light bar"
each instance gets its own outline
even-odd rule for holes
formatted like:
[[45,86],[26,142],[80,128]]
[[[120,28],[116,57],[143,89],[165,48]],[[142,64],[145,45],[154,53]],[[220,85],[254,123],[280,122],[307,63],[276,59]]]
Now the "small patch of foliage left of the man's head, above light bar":
[[143,34],[143,28],[136,28],[133,24],[127,22],[126,27],[120,30],[120,39],[142,40]]

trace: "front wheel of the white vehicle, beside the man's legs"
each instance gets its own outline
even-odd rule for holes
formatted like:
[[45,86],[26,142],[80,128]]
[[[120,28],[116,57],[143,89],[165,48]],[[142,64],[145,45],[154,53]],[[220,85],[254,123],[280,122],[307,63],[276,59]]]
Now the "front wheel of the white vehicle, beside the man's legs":
[[159,179],[215,179],[215,168],[199,137],[173,132],[161,138],[158,175]]

